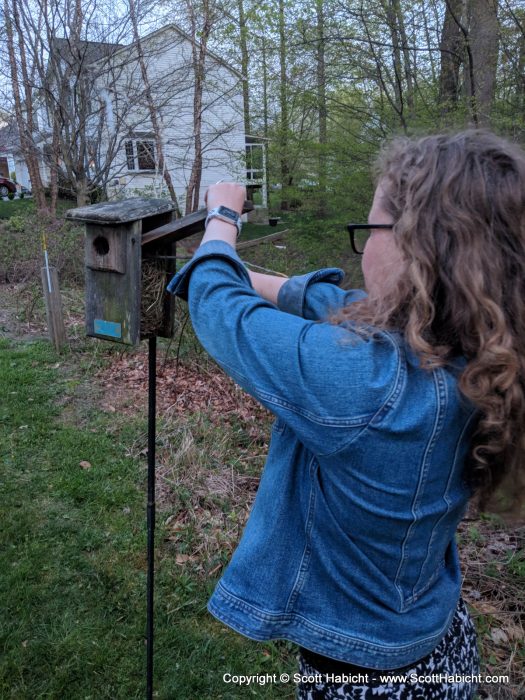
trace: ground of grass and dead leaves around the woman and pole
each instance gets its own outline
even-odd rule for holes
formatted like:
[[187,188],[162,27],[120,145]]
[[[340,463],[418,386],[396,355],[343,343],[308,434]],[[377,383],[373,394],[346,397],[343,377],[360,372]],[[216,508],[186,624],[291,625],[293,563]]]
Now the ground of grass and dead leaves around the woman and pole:
[[[69,347],[52,350],[38,280],[26,277],[25,215],[2,224],[26,263],[13,260],[0,285],[0,697],[144,697],[146,348],[84,337],[71,228],[60,234],[79,256],[61,273]],[[285,274],[336,262],[360,286],[344,223],[291,216],[281,240],[243,257]],[[206,612],[257,487],[270,416],[206,357],[185,319],[181,303],[176,338],[159,341],[155,697],[292,698],[291,684],[223,681],[293,673],[296,662],[292,645],[250,642]],[[480,697],[523,697],[525,533],[472,517],[459,536],[464,597],[484,669],[511,676]]]

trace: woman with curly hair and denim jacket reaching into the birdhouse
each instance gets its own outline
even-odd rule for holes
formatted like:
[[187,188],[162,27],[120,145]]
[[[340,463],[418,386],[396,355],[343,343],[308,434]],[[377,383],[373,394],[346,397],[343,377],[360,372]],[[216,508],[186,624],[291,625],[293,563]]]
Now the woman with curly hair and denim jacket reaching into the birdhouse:
[[201,247],[170,285],[206,350],[277,417],[208,609],[296,642],[299,698],[471,698],[454,534],[475,490],[506,473],[521,484],[525,154],[480,131],[395,141],[367,293],[341,290],[336,268],[248,273],[233,249],[244,197],[208,190]]

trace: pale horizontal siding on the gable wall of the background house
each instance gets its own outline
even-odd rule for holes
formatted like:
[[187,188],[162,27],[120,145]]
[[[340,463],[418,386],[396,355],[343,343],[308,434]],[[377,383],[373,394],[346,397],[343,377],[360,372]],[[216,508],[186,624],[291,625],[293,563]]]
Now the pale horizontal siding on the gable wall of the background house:
[[[143,49],[162,123],[165,161],[183,209],[194,159],[191,43],[175,30],[167,28],[150,40],[146,37]],[[106,87],[101,85],[101,91]],[[115,87],[117,95],[126,90],[127,94],[134,92],[137,99],[125,118],[119,118],[119,103],[113,99],[111,111],[117,116],[117,123],[123,123],[120,127],[122,143],[111,173],[114,185],[110,188],[110,195],[122,197],[142,191],[153,196],[166,195],[167,188],[160,173],[130,172],[127,168],[125,141],[128,138],[153,140],[147,104],[141,95],[138,62],[133,62],[122,72]],[[220,179],[245,178],[241,78],[212,56],[208,56],[206,61],[201,139],[203,167],[199,202],[203,204],[210,184]]]

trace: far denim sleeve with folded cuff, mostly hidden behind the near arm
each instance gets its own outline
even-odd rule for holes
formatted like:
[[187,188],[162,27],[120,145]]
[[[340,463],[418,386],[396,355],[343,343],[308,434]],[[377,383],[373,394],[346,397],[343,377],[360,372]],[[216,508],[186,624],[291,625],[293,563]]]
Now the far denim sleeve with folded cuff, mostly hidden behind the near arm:
[[337,309],[366,297],[361,289],[340,289],[343,277],[343,270],[337,267],[290,277],[279,290],[277,306],[301,318],[324,321]]

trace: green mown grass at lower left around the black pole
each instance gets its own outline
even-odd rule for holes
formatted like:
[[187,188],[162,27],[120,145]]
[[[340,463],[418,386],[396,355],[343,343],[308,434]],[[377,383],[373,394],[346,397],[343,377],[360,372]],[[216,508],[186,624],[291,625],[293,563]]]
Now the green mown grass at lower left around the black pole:
[[[129,446],[144,417],[97,409],[78,358],[47,343],[1,340],[0,382],[0,697],[143,697],[145,467]],[[251,643],[209,616],[215,579],[176,564],[162,518],[157,542],[157,697],[251,697],[223,673],[292,670],[285,644]]]

